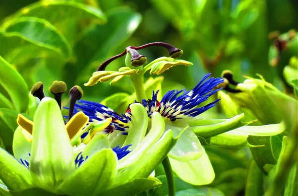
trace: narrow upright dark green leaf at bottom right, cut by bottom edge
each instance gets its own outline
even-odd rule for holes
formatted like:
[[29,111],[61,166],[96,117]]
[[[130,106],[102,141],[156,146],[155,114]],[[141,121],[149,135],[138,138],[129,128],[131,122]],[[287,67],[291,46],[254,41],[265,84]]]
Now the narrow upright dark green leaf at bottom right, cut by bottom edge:
[[263,189],[263,172],[258,168],[252,159],[248,166],[245,196],[262,196]]

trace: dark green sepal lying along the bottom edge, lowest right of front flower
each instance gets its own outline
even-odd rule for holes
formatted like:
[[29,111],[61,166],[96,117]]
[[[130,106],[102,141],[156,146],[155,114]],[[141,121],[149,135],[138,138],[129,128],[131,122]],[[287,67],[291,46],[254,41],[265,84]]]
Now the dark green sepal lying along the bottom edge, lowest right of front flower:
[[161,185],[157,178],[139,178],[134,179],[126,184],[121,184],[113,187],[110,190],[102,193],[103,196],[119,196],[119,193],[124,196],[134,196],[143,191],[159,187]]

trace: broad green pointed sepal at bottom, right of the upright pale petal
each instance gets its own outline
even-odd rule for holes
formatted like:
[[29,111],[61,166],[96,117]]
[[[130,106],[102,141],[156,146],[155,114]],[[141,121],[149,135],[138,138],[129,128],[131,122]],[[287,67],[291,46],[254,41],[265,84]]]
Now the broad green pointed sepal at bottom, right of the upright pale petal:
[[102,149],[88,157],[58,191],[70,196],[98,196],[111,186],[116,173],[116,154],[111,148]]

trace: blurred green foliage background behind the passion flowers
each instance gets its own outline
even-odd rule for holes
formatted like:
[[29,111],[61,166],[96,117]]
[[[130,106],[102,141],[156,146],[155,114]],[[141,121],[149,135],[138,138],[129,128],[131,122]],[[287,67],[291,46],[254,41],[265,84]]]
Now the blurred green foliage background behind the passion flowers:
[[[28,104],[32,103],[28,92],[37,81],[44,83],[47,95],[54,80],[65,81],[69,89],[80,85],[84,99],[97,102],[116,92],[133,93],[127,78],[112,86],[101,83],[84,87],[83,83],[106,59],[127,46],[149,42],[170,43],[184,51],[181,59],[194,64],[166,71],[163,93],[168,89],[191,89],[205,73],[220,76],[225,69],[232,70],[240,82],[244,80],[242,75],[254,77],[260,73],[283,91],[281,72],[286,65],[269,65],[272,40],[268,34],[297,28],[297,18],[296,0],[1,0],[0,126],[9,134],[0,137],[9,150],[17,126],[13,119],[18,113],[28,112]],[[140,53],[149,62],[168,56],[160,48]],[[124,58],[108,69],[118,70],[121,66]],[[63,105],[67,105],[68,96],[64,96]],[[220,107],[205,115],[225,116]],[[276,142],[281,144],[280,139]],[[246,148],[206,147],[206,151],[216,173],[209,186],[211,195],[243,195],[245,187],[248,189],[249,183],[260,180],[256,176],[262,176],[251,174],[255,169],[247,170],[256,168],[256,163],[249,163],[251,155]],[[275,164],[276,160],[270,158],[268,163]],[[162,169],[160,173],[156,170],[156,175],[165,182]],[[183,190],[198,189],[180,179],[175,181],[177,195],[183,195]],[[199,190],[203,194],[207,188]],[[150,194],[164,196],[166,191],[165,182]]]

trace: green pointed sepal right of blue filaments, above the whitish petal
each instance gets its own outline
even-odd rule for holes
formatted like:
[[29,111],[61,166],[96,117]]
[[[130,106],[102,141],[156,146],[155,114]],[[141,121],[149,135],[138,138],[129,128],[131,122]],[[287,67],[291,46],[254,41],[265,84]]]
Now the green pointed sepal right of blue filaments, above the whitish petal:
[[[241,119],[243,119],[243,117],[244,114],[239,114],[237,116],[234,116],[233,118],[226,119],[223,122],[216,123],[213,125],[199,125],[200,120],[198,120],[197,122],[190,123],[190,126],[196,135],[208,138],[249,124],[241,122]],[[203,119],[202,123],[204,123],[205,121],[206,120]]]

